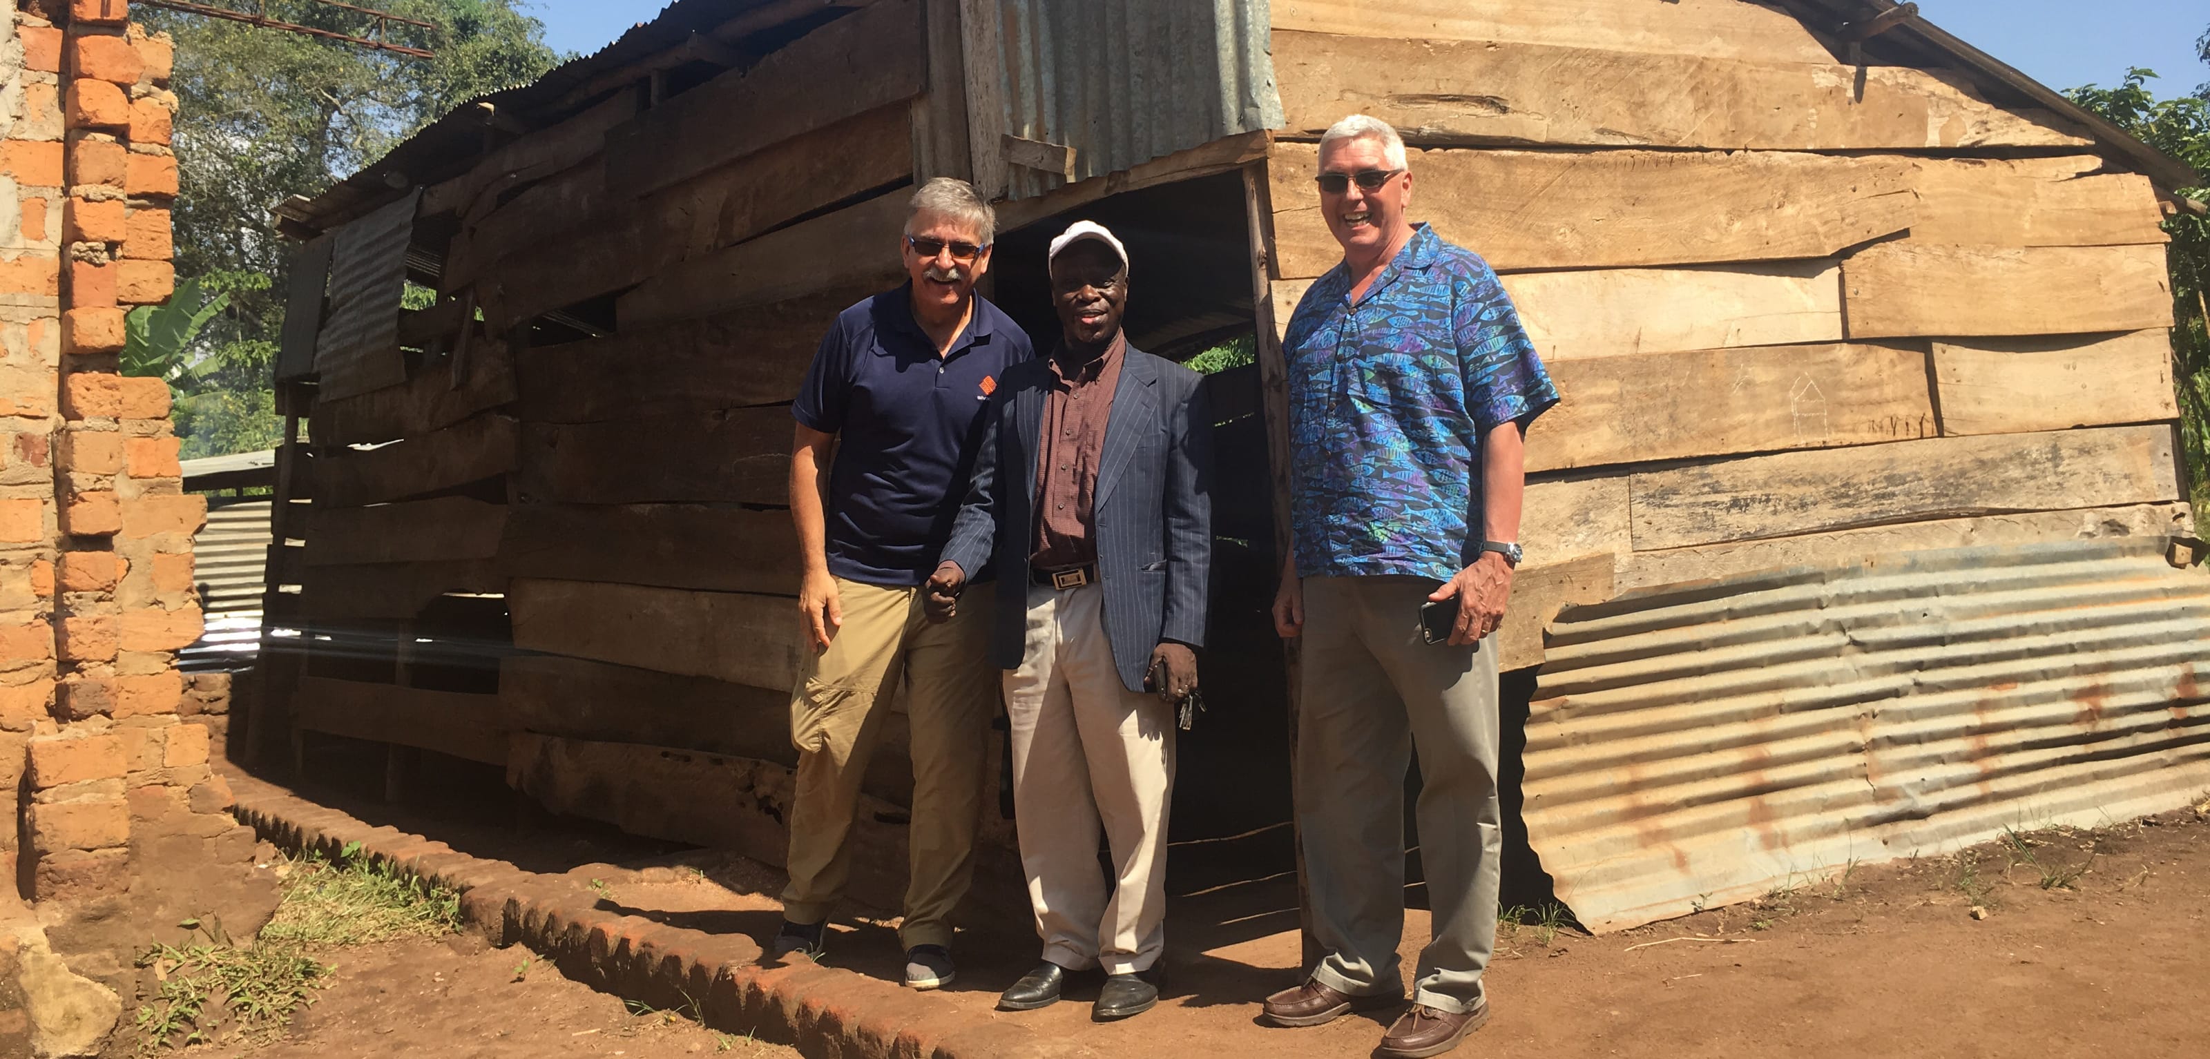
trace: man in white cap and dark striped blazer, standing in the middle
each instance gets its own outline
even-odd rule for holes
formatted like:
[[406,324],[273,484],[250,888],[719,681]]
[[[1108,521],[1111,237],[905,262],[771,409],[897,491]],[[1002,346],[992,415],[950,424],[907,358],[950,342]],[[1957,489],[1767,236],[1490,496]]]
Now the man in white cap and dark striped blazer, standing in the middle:
[[[1198,685],[1211,559],[1211,416],[1200,376],[1120,334],[1127,250],[1076,221],[1052,241],[1050,358],[1006,369],[975,482],[928,581],[957,610],[997,570],[1012,800],[1043,964],[999,997],[1030,1010],[1105,971],[1092,1017],[1158,1002],[1176,705]],[[1118,884],[1098,873],[1098,831]]]

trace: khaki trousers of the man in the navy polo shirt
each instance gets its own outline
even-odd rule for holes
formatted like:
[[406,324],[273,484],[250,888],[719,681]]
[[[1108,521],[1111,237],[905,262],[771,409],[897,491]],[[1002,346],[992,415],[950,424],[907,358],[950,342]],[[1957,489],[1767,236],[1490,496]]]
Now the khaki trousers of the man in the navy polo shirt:
[[983,657],[990,595],[968,593],[959,617],[930,626],[919,588],[838,577],[844,626],[813,654],[791,692],[798,794],[791,805],[791,884],[782,915],[824,922],[851,878],[860,778],[875,754],[897,681],[913,732],[913,825],[906,833],[906,920],[899,940],[953,942],[953,911],[975,878],[975,829],[997,714],[997,668]]

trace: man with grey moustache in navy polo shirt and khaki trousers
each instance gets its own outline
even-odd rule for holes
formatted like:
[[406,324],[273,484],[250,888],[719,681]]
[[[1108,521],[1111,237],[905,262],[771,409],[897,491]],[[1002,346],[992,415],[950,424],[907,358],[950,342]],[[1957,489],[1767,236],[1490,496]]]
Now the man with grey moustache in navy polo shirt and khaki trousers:
[[937,177],[915,190],[902,241],[911,281],[838,316],[791,407],[798,612],[813,654],[791,690],[798,794],[774,951],[822,948],[822,924],[851,873],[860,776],[904,679],[913,825],[899,937],[913,988],[953,979],[950,915],[975,873],[997,710],[988,604],[946,623],[928,623],[922,604],[988,398],[1008,367],[1034,356],[1021,325],[975,294],[994,230],[994,212],[966,181]]

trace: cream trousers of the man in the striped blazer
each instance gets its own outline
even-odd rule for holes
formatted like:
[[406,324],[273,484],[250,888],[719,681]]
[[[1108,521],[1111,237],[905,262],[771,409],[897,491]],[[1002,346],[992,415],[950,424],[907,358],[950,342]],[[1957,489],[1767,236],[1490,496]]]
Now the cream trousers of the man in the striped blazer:
[[[970,593],[972,595],[972,593]],[[1006,674],[1012,805],[1043,960],[1147,971],[1167,944],[1174,710],[1129,692],[1105,641],[1105,588],[1028,586],[1028,643]],[[1116,887],[1098,871],[1098,829]]]

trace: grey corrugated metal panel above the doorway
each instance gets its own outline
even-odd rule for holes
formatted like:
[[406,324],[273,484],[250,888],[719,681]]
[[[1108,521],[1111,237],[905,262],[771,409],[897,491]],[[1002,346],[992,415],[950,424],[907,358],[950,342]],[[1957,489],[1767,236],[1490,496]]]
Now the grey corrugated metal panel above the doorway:
[[[1269,0],[983,2],[997,4],[1006,133],[1074,148],[1076,179],[1282,126]],[[1061,184],[1008,166],[1012,199]]]

